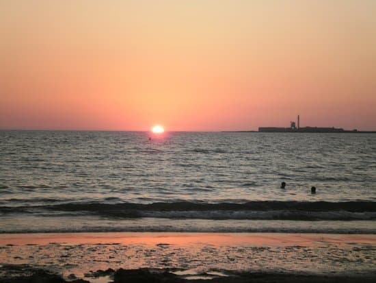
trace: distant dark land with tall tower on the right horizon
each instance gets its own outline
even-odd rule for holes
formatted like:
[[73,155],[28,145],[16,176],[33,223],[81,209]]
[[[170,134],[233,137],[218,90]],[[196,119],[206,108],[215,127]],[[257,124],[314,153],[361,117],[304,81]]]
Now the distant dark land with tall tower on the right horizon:
[[300,127],[300,116],[297,115],[297,123],[290,122],[290,127],[258,127],[258,131],[224,131],[224,132],[261,132],[261,133],[347,133],[366,134],[376,133],[376,131],[344,130],[341,127]]

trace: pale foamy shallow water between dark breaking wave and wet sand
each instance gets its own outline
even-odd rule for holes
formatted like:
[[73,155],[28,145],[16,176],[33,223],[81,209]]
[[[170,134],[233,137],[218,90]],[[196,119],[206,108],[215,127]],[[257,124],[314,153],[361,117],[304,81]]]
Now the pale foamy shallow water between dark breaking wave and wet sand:
[[[207,219],[109,219],[93,215],[14,215],[0,229],[3,233],[59,232],[270,232],[376,234],[374,221],[278,221]],[[33,225],[30,225],[33,223]],[[68,225],[66,223],[69,223]]]

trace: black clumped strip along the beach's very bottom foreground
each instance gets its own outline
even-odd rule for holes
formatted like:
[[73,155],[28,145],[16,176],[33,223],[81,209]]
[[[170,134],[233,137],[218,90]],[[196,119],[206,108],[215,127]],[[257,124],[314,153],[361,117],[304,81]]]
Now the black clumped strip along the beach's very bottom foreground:
[[[96,271],[97,275],[103,275],[105,281],[113,283],[269,283],[269,282],[338,282],[338,283],[373,283],[376,280],[375,274],[369,275],[304,275],[293,273],[228,273],[227,276],[208,278],[206,274],[192,275],[184,278],[170,272],[169,269],[118,269],[116,271]],[[100,277],[100,276],[98,276]],[[98,278],[97,277],[97,278]],[[3,283],[93,283],[100,282],[98,279],[74,279],[64,280],[60,275],[51,273],[44,269],[30,267],[27,265],[3,265],[0,267],[0,282]],[[208,279],[205,279],[208,278]]]

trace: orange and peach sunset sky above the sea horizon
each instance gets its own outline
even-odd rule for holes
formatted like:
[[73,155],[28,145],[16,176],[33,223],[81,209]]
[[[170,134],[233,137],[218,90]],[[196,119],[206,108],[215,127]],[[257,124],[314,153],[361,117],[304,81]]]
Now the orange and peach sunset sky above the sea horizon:
[[374,0],[0,0],[0,129],[376,130]]

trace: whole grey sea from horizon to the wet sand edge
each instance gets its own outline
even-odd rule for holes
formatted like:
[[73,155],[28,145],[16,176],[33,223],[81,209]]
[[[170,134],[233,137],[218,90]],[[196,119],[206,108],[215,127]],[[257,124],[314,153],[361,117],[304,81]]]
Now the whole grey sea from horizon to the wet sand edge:
[[0,233],[376,234],[376,134],[0,131],[0,160]]

